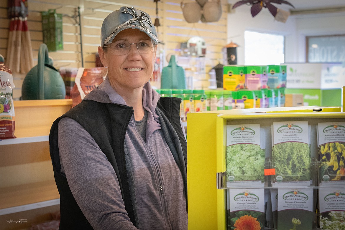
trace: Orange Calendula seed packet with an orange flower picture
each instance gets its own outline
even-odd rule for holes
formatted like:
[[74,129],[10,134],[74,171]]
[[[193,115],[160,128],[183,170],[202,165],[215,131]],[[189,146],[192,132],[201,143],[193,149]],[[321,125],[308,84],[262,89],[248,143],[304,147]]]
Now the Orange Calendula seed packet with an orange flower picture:
[[263,188],[228,189],[228,229],[263,229],[265,195]]

